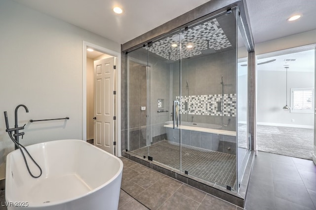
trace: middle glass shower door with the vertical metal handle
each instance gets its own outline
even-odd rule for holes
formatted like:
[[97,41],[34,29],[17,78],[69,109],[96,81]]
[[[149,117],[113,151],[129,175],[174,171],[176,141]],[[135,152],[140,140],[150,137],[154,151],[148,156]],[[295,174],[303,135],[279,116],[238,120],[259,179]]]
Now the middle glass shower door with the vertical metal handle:
[[[180,170],[180,125],[178,103],[180,96],[180,42],[176,31],[153,41],[148,46],[149,158],[171,170]],[[175,128],[174,128],[175,127]]]

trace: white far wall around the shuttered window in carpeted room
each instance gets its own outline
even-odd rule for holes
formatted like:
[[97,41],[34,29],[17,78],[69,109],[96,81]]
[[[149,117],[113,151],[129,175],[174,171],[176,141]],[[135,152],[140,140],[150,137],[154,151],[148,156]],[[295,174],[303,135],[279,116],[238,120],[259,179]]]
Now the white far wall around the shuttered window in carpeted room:
[[[284,111],[286,103],[286,71],[257,71],[257,123],[280,126],[314,126],[314,113]],[[314,72],[288,71],[287,105],[290,105],[291,88],[314,87]],[[294,122],[292,122],[294,119]]]

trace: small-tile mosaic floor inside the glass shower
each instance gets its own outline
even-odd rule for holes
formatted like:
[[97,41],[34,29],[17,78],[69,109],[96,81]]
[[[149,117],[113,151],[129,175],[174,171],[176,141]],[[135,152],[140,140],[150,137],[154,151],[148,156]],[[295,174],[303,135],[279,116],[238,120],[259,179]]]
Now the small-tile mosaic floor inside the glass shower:
[[[148,153],[149,151],[149,153]],[[140,156],[151,156],[154,161],[180,170],[180,146],[162,140],[131,151]],[[182,171],[219,185],[234,187],[236,181],[236,155],[182,145]]]

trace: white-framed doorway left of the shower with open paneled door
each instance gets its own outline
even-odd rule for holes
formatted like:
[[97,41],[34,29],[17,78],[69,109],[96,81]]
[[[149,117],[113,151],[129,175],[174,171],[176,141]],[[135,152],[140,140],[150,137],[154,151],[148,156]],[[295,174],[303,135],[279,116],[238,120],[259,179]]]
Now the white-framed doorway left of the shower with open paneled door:
[[83,42],[83,140],[120,156],[120,53]]

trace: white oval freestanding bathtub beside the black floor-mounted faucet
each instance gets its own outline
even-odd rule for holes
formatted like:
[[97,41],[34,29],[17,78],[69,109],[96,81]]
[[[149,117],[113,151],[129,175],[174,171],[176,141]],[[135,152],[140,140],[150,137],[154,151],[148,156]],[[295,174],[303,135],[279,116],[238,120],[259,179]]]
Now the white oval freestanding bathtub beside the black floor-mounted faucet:
[[[123,169],[118,157],[82,140],[55,140],[26,148],[42,175],[29,175],[19,150],[7,155],[5,206],[9,210],[118,209]],[[39,175],[39,169],[27,160],[31,172]]]

